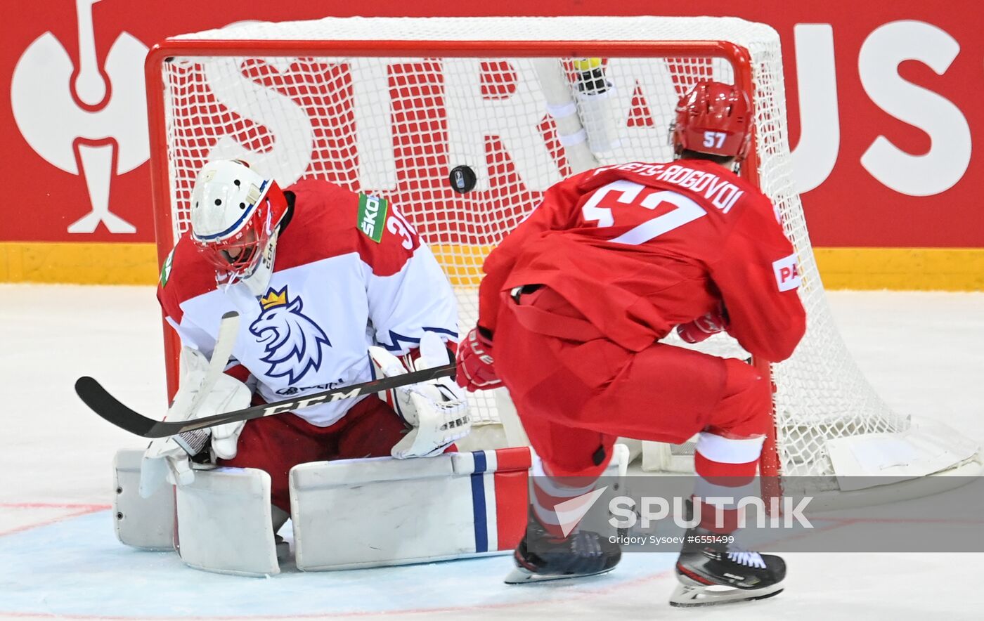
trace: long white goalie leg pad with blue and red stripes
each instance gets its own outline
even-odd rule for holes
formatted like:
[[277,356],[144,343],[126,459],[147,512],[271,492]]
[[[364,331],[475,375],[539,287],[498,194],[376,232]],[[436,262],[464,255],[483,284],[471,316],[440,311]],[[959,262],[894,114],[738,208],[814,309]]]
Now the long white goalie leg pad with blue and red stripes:
[[317,462],[290,470],[303,571],[512,551],[526,525],[526,447],[415,460]]

